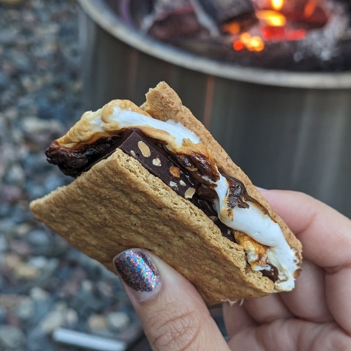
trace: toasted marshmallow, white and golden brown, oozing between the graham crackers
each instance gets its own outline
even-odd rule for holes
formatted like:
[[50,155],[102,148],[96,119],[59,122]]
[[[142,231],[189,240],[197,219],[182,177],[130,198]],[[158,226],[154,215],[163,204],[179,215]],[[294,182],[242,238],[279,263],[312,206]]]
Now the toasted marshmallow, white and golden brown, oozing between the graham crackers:
[[[78,136],[81,126],[87,130],[90,124],[91,135],[99,133],[109,135],[127,128],[138,128],[149,137],[154,137],[165,143],[166,149],[173,153],[188,151],[206,151],[200,138],[194,132],[186,128],[180,122],[173,120],[162,121],[148,116],[146,113],[139,113],[138,108],[120,108],[113,106],[107,109],[109,114],[103,115],[87,114],[71,130],[69,135]],[[81,126],[79,126],[79,123]],[[61,145],[73,147],[77,139],[61,140]],[[211,153],[207,150],[207,156]],[[279,225],[270,215],[264,213],[260,206],[247,201],[248,208],[231,208],[228,205],[229,183],[227,179],[218,171],[218,180],[212,181],[207,176],[203,176],[204,181],[213,185],[218,199],[213,201],[213,206],[218,214],[219,220],[229,228],[247,234],[251,239],[267,247],[265,259],[260,259],[262,245],[244,245],[247,260],[255,271],[270,270],[271,265],[278,271],[278,278],[274,284],[275,292],[290,291],[294,287],[294,274],[299,269],[300,261],[294,249],[287,243]]]

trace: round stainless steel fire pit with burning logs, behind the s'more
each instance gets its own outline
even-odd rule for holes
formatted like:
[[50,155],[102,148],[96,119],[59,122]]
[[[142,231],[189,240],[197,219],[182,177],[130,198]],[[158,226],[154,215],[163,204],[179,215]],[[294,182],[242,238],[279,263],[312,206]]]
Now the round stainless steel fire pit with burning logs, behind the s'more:
[[[127,6],[133,1],[121,2]],[[137,12],[127,6],[118,15],[117,1],[79,3],[85,108],[97,109],[113,98],[141,104],[145,91],[165,80],[257,185],[304,191],[351,216],[351,200],[345,196],[351,193],[351,71],[347,67],[351,59],[347,50],[330,63],[330,69],[324,61],[313,72],[302,66],[287,70],[283,59],[279,67],[273,69],[271,62],[262,68],[254,64],[259,61],[254,55],[266,55],[265,50],[278,44],[286,47],[286,39],[265,40],[261,51],[239,49],[235,42],[242,33],[228,35],[223,25],[233,21],[225,21],[220,29],[226,50],[244,59],[219,60],[191,51],[195,41],[180,48],[169,37],[168,42],[152,37],[150,30],[157,21],[147,31],[138,29],[140,22],[131,17]],[[322,28],[308,27],[304,38],[289,39],[289,45],[304,45],[301,40],[310,40],[313,31]],[[254,27],[247,29],[254,37]],[[347,34],[341,46],[344,40]],[[310,64],[311,57],[300,62]],[[296,58],[290,60],[296,64]]]

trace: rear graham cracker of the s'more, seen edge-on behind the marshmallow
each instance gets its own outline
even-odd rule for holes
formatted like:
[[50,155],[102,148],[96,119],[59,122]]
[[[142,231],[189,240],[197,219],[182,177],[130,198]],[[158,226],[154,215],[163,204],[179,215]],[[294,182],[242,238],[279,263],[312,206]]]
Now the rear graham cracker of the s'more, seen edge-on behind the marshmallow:
[[239,179],[245,185],[248,194],[269,211],[271,217],[282,229],[290,247],[294,248],[298,253],[301,262],[301,242],[288,228],[282,218],[275,213],[270,203],[260,194],[249,177],[233,162],[205,126],[194,117],[187,107],[183,106],[181,99],[166,82],[160,82],[156,88],[150,89],[146,94],[146,102],[140,107],[154,118],[161,120],[174,119],[193,131],[210,149],[219,171]]

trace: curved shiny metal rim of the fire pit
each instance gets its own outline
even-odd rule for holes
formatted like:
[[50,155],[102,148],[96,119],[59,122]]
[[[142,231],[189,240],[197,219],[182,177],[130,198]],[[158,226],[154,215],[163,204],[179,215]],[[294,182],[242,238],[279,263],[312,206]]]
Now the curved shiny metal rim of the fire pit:
[[[207,75],[289,88],[351,88],[351,72],[288,72],[242,67],[206,59],[157,41],[128,27],[103,0],[78,0],[82,10],[101,28],[137,50],[163,61]],[[165,50],[167,47],[167,50]]]

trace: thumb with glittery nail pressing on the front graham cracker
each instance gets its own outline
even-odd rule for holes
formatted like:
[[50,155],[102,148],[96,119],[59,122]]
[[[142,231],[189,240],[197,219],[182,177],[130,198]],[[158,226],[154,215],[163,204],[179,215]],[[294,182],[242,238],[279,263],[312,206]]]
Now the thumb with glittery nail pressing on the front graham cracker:
[[174,268],[141,249],[114,263],[154,351],[229,350],[195,287]]

